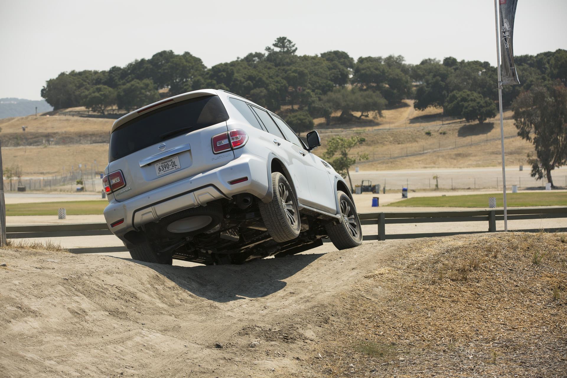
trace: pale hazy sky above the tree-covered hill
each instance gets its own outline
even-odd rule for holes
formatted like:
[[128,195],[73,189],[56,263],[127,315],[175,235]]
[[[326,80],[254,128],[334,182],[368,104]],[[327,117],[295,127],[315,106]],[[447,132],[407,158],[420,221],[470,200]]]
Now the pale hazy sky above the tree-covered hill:
[[[515,55],[567,49],[566,16],[565,0],[519,0]],[[0,0],[0,98],[39,100],[62,71],[107,70],[161,50],[188,51],[210,67],[264,52],[278,36],[297,54],[496,66],[492,0]]]

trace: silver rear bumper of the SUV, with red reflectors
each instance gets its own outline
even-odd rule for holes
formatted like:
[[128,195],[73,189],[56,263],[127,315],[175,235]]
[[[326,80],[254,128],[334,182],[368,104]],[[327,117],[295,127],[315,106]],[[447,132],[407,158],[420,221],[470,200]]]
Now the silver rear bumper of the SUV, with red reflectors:
[[[229,181],[242,177],[248,177],[248,180],[229,184]],[[215,199],[231,198],[240,193],[264,198],[268,190],[266,160],[256,155],[243,154],[208,172],[172,182],[122,202],[113,200],[104,209],[104,218],[108,228],[121,237],[143,224],[155,222],[177,211],[206,206]],[[124,222],[111,227],[112,223],[120,219],[124,219]]]

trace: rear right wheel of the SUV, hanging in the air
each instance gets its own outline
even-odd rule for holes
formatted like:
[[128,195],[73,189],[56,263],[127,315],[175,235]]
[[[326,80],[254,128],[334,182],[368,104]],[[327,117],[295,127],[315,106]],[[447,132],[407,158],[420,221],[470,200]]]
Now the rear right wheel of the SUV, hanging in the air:
[[300,227],[297,196],[280,172],[272,173],[272,189],[272,201],[258,203],[266,229],[278,243],[293,240],[299,235]]

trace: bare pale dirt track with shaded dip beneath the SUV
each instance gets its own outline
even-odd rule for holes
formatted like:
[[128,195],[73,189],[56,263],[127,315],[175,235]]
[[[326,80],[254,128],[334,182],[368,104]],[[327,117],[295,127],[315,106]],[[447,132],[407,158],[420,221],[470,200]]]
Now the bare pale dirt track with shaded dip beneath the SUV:
[[0,376],[317,376],[341,293],[406,243],[197,267],[2,249]]

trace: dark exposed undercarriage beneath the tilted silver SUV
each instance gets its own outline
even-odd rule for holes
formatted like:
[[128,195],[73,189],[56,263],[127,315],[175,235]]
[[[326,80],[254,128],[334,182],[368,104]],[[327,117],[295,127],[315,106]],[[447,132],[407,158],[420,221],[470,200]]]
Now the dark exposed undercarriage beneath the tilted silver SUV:
[[[258,202],[250,194],[219,199],[199,207],[198,214],[188,209],[148,223],[135,234],[127,233],[125,239],[135,243],[139,237],[145,237],[162,256],[206,265],[242,264],[274,255],[284,257],[323,244],[321,238],[327,236],[324,224],[331,220],[328,216],[300,211],[298,237],[277,243],[266,229]],[[196,220],[201,222],[198,226]],[[203,220],[210,222],[204,227]]]

